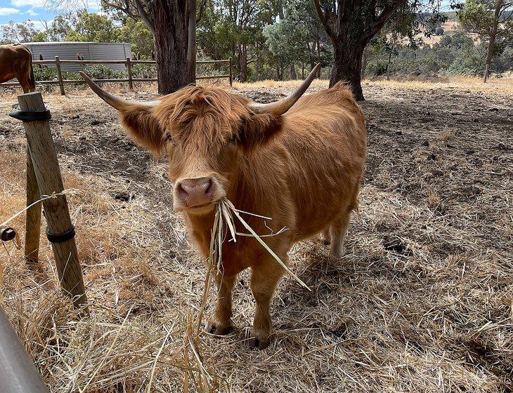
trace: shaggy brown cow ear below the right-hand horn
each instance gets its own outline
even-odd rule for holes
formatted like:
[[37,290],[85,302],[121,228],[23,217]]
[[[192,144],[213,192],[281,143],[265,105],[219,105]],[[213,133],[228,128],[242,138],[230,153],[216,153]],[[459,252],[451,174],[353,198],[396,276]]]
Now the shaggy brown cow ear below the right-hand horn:
[[282,117],[271,113],[253,114],[243,119],[239,140],[242,147],[250,152],[266,145],[282,129]]

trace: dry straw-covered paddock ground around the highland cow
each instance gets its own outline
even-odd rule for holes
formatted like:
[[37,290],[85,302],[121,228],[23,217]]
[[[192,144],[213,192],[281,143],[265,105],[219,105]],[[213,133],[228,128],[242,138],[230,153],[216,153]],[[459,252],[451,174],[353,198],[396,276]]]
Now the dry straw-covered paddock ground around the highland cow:
[[[268,102],[292,88],[281,86],[236,87]],[[328,262],[317,240],[294,246],[291,269],[313,291],[282,281],[262,352],[247,345],[247,274],[235,331],[184,338],[206,269],[172,211],[165,157],[130,142],[89,91],[45,93],[91,318],[60,295],[46,239],[37,269],[0,247],[0,304],[51,392],[512,392],[513,84],[480,86],[365,82],[348,253]],[[15,102],[0,96],[0,222],[25,204]],[[10,223],[23,234],[23,215]]]

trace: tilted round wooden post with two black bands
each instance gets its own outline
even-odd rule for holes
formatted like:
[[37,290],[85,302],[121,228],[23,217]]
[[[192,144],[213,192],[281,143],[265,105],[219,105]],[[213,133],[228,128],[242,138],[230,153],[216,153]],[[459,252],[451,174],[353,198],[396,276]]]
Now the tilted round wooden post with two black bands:
[[[39,192],[41,196],[59,194],[64,190],[63,179],[48,123],[49,111],[44,107],[41,93],[18,95],[18,102],[21,111],[11,116],[23,120]],[[60,286],[72,298],[73,306],[80,309],[82,315],[88,314],[82,269],[66,196],[56,195],[44,199],[42,204],[48,223],[46,236],[52,244]]]

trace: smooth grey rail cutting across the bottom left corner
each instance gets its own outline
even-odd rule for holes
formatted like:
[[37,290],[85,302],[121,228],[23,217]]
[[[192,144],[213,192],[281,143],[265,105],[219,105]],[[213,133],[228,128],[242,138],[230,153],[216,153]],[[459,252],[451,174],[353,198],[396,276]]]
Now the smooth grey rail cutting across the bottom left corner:
[[0,308],[0,392],[47,393],[18,335]]

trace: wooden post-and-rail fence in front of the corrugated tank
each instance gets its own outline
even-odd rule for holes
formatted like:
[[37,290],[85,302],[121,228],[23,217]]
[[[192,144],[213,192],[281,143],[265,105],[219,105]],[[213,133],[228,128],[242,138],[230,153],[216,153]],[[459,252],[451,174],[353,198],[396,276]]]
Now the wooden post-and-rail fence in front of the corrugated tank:
[[[60,94],[65,95],[65,85],[77,85],[77,84],[85,84],[86,82],[82,79],[63,79],[63,72],[60,65],[63,64],[78,64],[78,65],[90,65],[90,64],[124,64],[126,67],[126,73],[128,78],[121,79],[94,79],[95,82],[128,82],[129,88],[134,88],[134,82],[156,82],[157,78],[134,78],[132,77],[132,65],[138,64],[157,64],[155,60],[131,60],[131,58],[126,58],[126,60],[60,60],[59,56],[56,56],[55,60],[32,60],[32,65],[45,65],[52,64],[56,66],[57,69],[57,80],[55,81],[36,81],[36,84],[39,85],[58,85],[60,89]],[[196,79],[224,79],[227,78],[229,80],[230,86],[233,83],[233,65],[232,58],[228,58],[226,60],[203,60],[197,61],[196,64],[228,64],[229,72],[228,74],[223,75],[207,75],[207,76],[196,76]],[[20,87],[21,85],[18,82],[10,82],[6,84],[0,84],[0,87]]]

